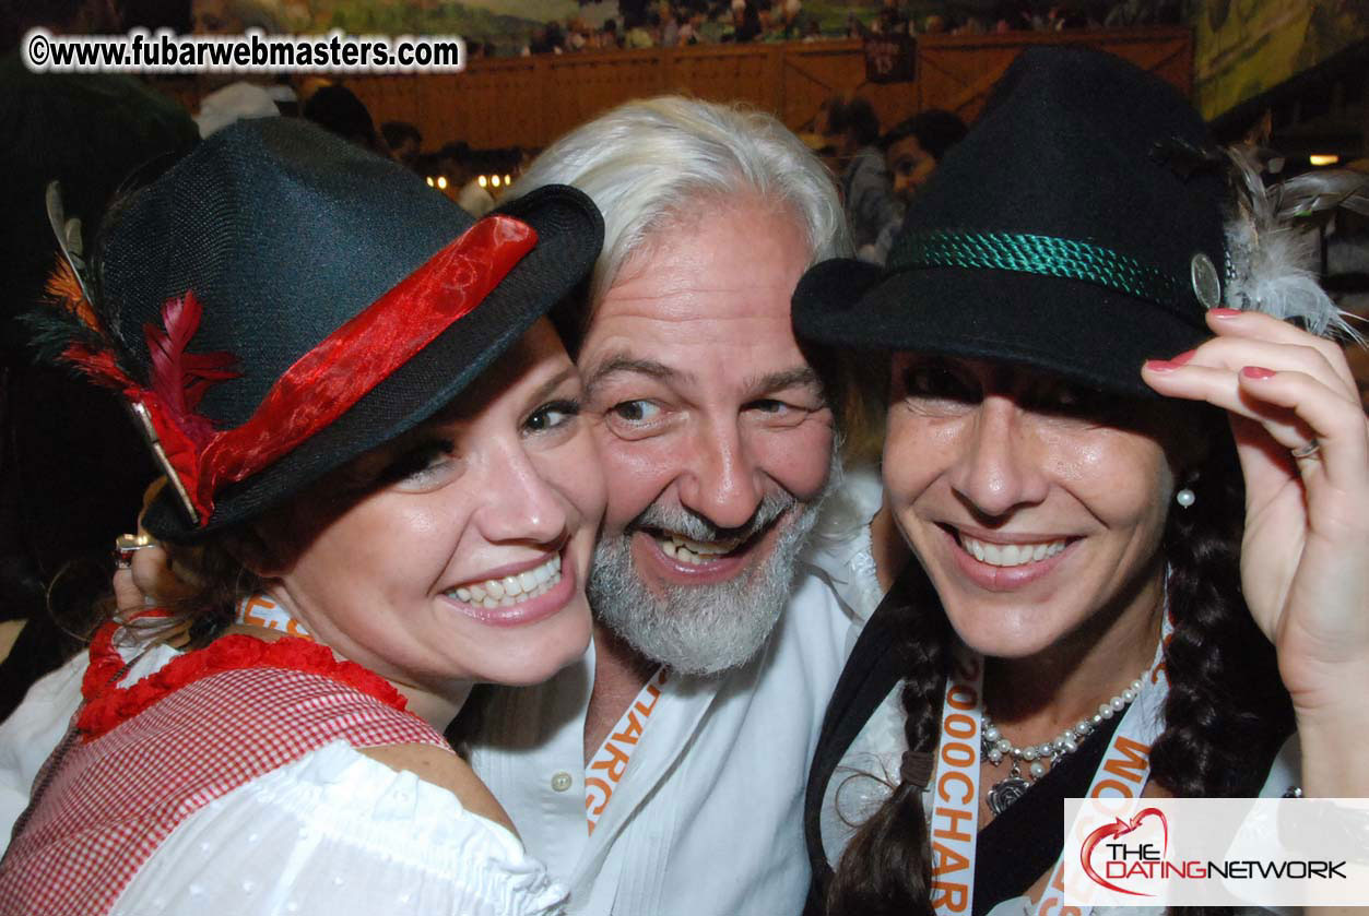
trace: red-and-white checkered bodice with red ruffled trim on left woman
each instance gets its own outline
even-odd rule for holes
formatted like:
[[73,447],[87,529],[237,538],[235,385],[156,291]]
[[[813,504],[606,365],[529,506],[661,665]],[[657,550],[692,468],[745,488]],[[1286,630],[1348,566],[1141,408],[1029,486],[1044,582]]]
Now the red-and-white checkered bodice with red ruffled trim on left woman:
[[38,775],[0,865],[3,916],[107,913],[190,813],[333,741],[448,746],[387,682],[304,640],[220,637],[131,688],[92,690],[111,681],[108,658],[94,660],[110,636],[92,645],[78,737]]

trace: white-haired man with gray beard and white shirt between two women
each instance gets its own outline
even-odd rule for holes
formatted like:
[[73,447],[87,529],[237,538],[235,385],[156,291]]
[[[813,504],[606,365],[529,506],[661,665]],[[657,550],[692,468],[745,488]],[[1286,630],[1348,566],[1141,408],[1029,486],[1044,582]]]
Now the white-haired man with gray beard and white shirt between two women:
[[790,295],[847,249],[841,205],[776,120],[683,98],[572,131],[513,190],[553,182],[606,224],[568,334],[609,483],[596,638],[549,684],[493,689],[471,763],[572,913],[797,913],[808,763],[880,596],[876,481],[810,537],[838,436]]

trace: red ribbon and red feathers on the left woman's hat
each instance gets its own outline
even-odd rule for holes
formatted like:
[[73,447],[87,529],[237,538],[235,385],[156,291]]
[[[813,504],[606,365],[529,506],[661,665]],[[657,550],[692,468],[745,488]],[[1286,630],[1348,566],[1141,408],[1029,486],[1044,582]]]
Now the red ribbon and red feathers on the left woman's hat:
[[200,325],[193,293],[163,306],[166,332],[145,327],[151,387],[131,381],[111,354],[86,345],[74,343],[63,355],[146,409],[203,528],[222,487],[263,470],[346,413],[479,305],[534,245],[531,226],[502,215],[482,219],[296,360],[252,417],[233,429],[215,431],[194,413],[212,384],[237,373],[227,368],[231,354],[185,351]]

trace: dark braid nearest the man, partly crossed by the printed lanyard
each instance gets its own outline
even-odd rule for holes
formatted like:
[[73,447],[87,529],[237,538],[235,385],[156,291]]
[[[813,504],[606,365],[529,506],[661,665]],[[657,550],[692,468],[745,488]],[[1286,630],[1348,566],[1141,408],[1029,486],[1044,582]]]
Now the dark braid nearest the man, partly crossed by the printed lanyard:
[[[904,733],[913,751],[936,751],[942,695],[950,671],[950,621],[925,577],[909,589],[904,658]],[[862,916],[932,913],[931,838],[921,789],[899,782],[852,837],[827,894],[827,912]],[[913,902],[916,901],[916,902]]]

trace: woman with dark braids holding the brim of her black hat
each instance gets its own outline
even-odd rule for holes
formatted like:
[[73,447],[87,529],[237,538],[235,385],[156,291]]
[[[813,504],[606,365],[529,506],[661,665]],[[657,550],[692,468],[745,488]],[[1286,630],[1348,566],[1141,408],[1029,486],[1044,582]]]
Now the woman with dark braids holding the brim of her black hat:
[[1154,77],[1031,51],[888,269],[799,283],[801,336],[893,351],[875,552],[916,556],[823,726],[809,912],[1058,908],[1101,779],[1369,794],[1369,428],[1251,187]]

